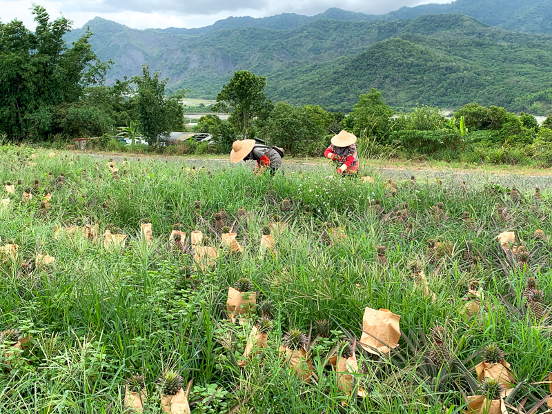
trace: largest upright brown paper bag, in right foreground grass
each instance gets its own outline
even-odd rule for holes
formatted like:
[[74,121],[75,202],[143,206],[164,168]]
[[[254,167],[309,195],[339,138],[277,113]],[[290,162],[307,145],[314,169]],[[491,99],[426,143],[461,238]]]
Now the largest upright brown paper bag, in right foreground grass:
[[[397,348],[401,337],[400,318],[400,315],[395,315],[387,309],[376,311],[372,308],[366,308],[362,317],[363,332],[360,337],[362,348],[374,355],[388,353],[391,349]],[[368,333],[380,340],[378,341]]]

